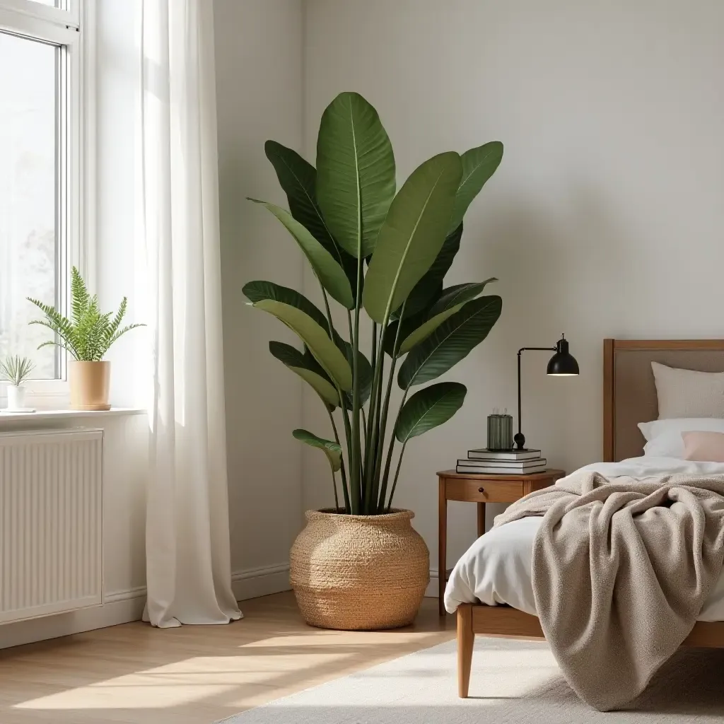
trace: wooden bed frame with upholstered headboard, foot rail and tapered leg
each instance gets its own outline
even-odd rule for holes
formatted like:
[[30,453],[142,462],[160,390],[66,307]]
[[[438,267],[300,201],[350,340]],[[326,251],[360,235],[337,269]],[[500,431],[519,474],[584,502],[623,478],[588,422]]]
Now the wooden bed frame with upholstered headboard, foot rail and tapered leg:
[[[643,454],[637,425],[658,416],[652,361],[704,372],[724,371],[724,340],[603,340],[603,459]],[[458,607],[458,696],[470,686],[475,635],[543,638],[536,616],[510,606]],[[724,621],[697,621],[683,646],[724,648]]]

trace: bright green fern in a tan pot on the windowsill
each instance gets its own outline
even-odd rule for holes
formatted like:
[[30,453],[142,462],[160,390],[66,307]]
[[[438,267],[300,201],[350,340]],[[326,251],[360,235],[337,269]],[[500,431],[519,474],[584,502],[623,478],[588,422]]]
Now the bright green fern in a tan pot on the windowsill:
[[104,360],[110,346],[123,334],[143,324],[121,327],[126,313],[127,298],[121,301],[115,316],[113,312],[101,313],[98,296],[90,295],[88,287],[75,268],[70,274],[71,318],[63,316],[54,306],[28,297],[45,319],[35,319],[30,324],[42,324],[55,334],[54,340],[38,347],[57,345],[72,357],[68,363],[70,384],[70,408],[72,410],[110,410],[109,388],[111,363]]

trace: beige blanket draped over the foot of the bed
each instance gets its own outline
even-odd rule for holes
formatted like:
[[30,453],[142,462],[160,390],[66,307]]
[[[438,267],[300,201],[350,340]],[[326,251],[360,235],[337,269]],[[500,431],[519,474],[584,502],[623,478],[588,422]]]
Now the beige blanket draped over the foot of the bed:
[[543,521],[533,592],[565,678],[592,707],[622,707],[694,627],[724,559],[724,476],[574,473],[518,500],[501,526]]

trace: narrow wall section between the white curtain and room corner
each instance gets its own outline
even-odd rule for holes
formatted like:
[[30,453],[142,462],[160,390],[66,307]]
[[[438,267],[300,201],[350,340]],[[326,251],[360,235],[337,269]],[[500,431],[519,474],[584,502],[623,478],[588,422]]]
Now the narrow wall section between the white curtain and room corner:
[[288,233],[245,201],[286,205],[264,141],[301,146],[301,0],[214,0],[214,32],[232,570],[237,596],[248,596],[289,587],[301,521],[301,453],[291,437],[301,384],[268,350],[289,333],[245,306],[241,292],[252,279],[301,288]]

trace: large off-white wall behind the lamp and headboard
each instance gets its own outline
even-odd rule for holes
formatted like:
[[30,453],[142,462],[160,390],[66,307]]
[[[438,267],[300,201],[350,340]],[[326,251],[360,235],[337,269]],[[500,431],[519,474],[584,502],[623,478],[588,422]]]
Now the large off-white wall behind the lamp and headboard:
[[[528,441],[570,471],[601,457],[604,337],[721,336],[723,25],[710,0],[307,1],[311,159],[342,90],[378,109],[399,182],[439,151],[505,144],[447,278],[498,277],[502,317],[445,378],[468,385],[463,410],[403,464],[397,503],[431,550],[434,473],[484,444],[494,406],[513,411],[519,347],[571,340],[580,378],[547,379],[546,353],[523,369]],[[316,502],[327,476],[305,461]],[[450,560],[474,535],[472,506],[458,506]]]

